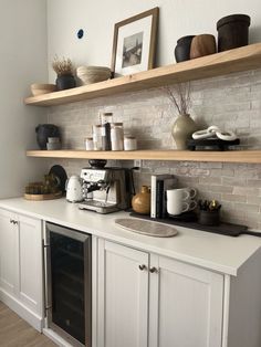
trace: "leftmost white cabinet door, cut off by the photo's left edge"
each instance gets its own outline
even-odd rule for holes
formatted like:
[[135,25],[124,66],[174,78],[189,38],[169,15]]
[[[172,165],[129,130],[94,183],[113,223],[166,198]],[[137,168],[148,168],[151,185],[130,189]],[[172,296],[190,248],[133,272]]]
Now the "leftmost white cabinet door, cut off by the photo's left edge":
[[18,228],[15,215],[0,209],[0,287],[17,295],[18,287]]

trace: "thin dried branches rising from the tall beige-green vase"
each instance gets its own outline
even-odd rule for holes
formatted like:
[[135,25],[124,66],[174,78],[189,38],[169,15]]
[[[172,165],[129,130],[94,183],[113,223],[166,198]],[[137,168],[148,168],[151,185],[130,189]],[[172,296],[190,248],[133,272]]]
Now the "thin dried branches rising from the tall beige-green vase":
[[163,87],[167,93],[168,98],[177,108],[180,115],[188,115],[191,105],[190,99],[190,83],[179,83],[174,91],[169,86]]

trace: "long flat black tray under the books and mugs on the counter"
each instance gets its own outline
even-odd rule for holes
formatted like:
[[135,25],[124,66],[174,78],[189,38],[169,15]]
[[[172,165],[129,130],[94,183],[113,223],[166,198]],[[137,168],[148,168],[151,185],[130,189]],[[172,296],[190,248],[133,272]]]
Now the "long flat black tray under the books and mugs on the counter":
[[218,233],[218,234],[222,234],[227,236],[239,236],[241,234],[249,234],[249,235],[261,238],[261,233],[254,232],[254,231],[248,231],[247,225],[231,224],[231,223],[225,223],[225,222],[221,222],[219,225],[203,225],[203,224],[198,223],[197,221],[181,220],[179,219],[179,217],[177,218],[168,217],[165,219],[157,219],[157,218],[150,218],[149,215],[138,214],[135,212],[130,212],[129,215],[145,219],[145,220],[154,220],[156,222],[171,224],[171,225],[178,225],[178,227],[185,227],[189,229],[213,232],[213,233]]

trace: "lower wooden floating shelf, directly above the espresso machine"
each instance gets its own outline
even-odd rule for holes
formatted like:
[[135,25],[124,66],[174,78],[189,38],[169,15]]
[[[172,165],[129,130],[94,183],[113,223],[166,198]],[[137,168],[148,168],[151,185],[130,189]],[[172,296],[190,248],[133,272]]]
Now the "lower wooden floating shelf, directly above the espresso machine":
[[113,159],[113,160],[174,160],[209,162],[261,164],[261,150],[189,151],[189,150],[28,150],[28,157],[63,159]]

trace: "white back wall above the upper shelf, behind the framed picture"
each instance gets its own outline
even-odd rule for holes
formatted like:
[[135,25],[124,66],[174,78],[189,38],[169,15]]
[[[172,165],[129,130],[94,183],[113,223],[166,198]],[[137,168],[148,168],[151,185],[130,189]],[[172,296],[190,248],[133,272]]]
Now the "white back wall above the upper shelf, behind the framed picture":
[[[154,7],[160,12],[157,65],[174,62],[180,36],[217,35],[217,21],[232,13],[249,14],[250,42],[261,41],[260,0],[48,0],[49,63],[58,54],[71,57],[75,65],[111,66],[114,24]],[[82,40],[76,38],[80,28],[85,30]]]

